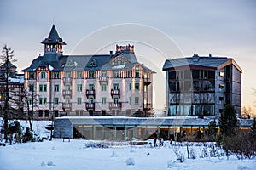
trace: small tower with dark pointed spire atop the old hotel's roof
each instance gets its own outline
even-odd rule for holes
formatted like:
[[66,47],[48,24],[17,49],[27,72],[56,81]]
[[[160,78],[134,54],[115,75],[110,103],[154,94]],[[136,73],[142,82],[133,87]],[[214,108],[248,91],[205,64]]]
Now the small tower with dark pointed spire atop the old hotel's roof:
[[55,25],[52,26],[49,31],[49,36],[44,39],[41,43],[44,44],[44,54],[55,54],[63,53],[63,45],[66,45],[66,42],[62,40],[58,32],[55,29]]

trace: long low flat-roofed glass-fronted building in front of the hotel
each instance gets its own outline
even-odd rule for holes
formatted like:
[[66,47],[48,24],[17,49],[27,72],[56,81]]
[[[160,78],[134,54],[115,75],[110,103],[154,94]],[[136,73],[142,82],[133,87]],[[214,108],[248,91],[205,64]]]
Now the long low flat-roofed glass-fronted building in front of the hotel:
[[[160,135],[170,139],[174,133],[204,133],[211,118],[188,116],[126,117],[126,116],[64,116],[55,118],[54,137],[69,139],[132,140]],[[218,120],[215,120],[218,125]],[[250,128],[253,119],[239,119],[240,127]]]

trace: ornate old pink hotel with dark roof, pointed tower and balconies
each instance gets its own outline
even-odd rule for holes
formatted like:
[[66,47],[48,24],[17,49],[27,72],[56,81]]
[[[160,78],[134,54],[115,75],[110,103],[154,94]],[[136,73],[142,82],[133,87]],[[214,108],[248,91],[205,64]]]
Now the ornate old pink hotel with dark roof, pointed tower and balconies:
[[55,26],[42,43],[44,55],[23,70],[25,87],[37,95],[30,105],[39,118],[152,114],[154,71],[137,61],[134,46],[116,45],[109,54],[64,55],[66,42]]

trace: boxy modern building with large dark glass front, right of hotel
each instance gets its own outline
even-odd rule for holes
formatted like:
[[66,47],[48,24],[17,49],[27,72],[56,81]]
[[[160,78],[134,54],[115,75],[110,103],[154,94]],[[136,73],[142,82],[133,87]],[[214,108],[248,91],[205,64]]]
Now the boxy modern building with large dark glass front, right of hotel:
[[227,104],[241,114],[241,67],[226,57],[167,59],[166,116],[218,117]]

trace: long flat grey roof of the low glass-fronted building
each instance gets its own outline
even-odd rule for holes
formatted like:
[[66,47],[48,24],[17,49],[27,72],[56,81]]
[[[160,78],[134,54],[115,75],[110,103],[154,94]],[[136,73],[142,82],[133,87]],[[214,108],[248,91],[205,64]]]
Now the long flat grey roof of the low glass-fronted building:
[[[152,125],[152,126],[207,126],[211,121],[218,119],[197,116],[168,116],[168,117],[125,117],[125,116],[65,116],[56,117],[55,121],[69,120],[72,124],[104,124],[104,125]],[[240,119],[241,127],[248,127],[253,120]]]

